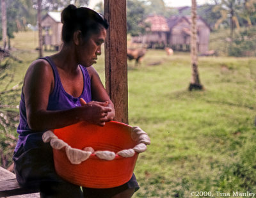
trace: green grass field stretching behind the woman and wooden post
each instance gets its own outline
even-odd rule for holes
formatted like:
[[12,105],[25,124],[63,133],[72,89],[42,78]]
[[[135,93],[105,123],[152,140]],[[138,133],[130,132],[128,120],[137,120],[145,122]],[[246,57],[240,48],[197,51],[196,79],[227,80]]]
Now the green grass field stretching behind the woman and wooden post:
[[[20,33],[12,41],[13,55],[23,63],[9,60],[0,92],[19,84],[38,56],[34,40],[24,38],[29,34],[33,38],[33,32]],[[141,188],[135,198],[256,193],[256,58],[199,57],[198,66],[205,90],[189,92],[188,53],[166,56],[163,50],[148,50],[141,65],[128,61],[129,124],[140,126],[152,141],[136,164]],[[103,56],[95,68],[104,80]],[[3,93],[0,104],[19,105],[18,88]],[[4,133],[14,135],[15,127],[3,132],[1,147],[7,145]]]

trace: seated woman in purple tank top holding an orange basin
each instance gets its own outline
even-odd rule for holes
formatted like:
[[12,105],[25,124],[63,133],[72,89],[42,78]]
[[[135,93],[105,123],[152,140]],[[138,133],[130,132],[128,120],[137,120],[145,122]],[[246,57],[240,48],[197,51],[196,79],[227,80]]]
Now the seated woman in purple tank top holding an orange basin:
[[60,52],[34,61],[24,78],[19,141],[13,155],[17,180],[39,188],[40,197],[131,197],[139,188],[135,176],[120,187],[83,188],[83,192],[63,181],[54,171],[51,146],[42,142],[45,130],[79,121],[104,126],[115,117],[113,103],[92,66],[101,54],[108,23],[99,13],[74,5],[62,11],[61,22]]

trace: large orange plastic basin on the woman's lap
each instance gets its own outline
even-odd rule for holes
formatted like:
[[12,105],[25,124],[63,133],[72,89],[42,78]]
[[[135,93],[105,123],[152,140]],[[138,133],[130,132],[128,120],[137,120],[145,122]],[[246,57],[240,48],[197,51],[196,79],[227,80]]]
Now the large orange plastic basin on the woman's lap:
[[[111,121],[105,126],[77,123],[54,130],[59,139],[72,148],[92,147],[95,151],[113,151],[134,148],[138,142],[131,138],[132,127]],[[95,154],[81,164],[71,164],[63,149],[53,149],[54,166],[61,178],[88,188],[113,188],[132,177],[138,153],[129,158],[116,155],[114,160],[102,160]]]

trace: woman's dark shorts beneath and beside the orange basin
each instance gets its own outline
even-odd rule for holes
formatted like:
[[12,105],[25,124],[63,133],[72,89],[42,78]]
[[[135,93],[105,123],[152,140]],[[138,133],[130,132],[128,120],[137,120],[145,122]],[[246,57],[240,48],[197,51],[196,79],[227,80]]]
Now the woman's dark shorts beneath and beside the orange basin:
[[107,197],[106,195],[111,197],[129,188],[134,188],[135,191],[140,188],[133,174],[132,178],[120,187],[83,188],[82,192],[80,187],[64,181],[56,174],[52,159],[52,148],[49,143],[40,144],[40,147],[29,149],[21,146],[14,153],[13,161],[17,181],[20,185],[38,188],[41,197]]

